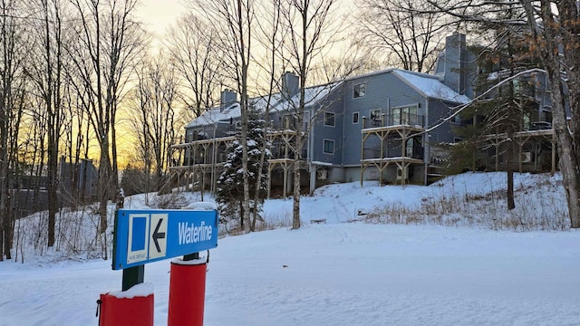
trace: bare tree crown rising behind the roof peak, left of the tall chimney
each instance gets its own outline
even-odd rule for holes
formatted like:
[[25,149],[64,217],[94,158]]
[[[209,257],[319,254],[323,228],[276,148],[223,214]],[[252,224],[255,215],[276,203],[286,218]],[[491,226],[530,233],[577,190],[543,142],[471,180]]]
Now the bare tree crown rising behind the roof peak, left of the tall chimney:
[[362,43],[389,65],[429,72],[452,26],[420,0],[363,0],[355,24]]

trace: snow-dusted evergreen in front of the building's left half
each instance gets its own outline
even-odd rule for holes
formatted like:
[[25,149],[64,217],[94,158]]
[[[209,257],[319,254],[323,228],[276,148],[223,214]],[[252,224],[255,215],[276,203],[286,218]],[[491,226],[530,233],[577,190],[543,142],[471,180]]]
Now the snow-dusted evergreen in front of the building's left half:
[[[265,159],[270,158],[269,144],[266,140],[266,130],[264,129],[265,120],[254,107],[250,106],[249,119],[247,121],[247,169],[250,198],[254,198],[258,191],[259,203],[261,207],[267,196],[267,166],[264,165],[261,171],[258,171],[259,161],[263,150],[266,150]],[[242,145],[240,141],[240,127],[237,127],[237,139],[234,140],[226,149],[227,160],[224,165],[224,171],[218,178],[218,189],[216,200],[220,209],[220,222],[227,224],[231,221],[239,220],[240,230],[244,229],[244,177],[242,169]],[[257,177],[261,174],[259,189],[256,189]],[[254,199],[250,199],[249,207],[254,206]],[[257,214],[261,209],[257,209]],[[257,217],[257,216],[256,216]]]

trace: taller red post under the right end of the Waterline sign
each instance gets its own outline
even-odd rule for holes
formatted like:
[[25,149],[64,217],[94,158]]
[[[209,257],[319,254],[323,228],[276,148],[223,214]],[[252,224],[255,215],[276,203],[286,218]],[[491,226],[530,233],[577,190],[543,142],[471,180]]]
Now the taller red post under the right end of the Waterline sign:
[[207,265],[206,257],[171,262],[168,326],[203,325]]

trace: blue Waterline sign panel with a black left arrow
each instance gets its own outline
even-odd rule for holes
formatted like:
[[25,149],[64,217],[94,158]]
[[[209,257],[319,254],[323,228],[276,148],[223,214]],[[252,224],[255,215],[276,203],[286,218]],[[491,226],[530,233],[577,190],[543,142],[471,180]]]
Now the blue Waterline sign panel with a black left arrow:
[[194,254],[218,246],[217,210],[120,209],[112,269]]

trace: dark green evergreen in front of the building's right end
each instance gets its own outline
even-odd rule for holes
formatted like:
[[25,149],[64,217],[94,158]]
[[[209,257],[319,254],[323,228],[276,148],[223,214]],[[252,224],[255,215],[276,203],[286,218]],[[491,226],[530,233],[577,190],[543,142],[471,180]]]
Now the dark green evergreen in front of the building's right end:
[[[478,76],[477,89],[481,92],[488,91],[502,80],[537,64],[534,58],[529,56],[525,31],[512,27],[498,29],[496,32],[498,44],[493,51],[483,52],[480,55],[482,73]],[[471,114],[472,120],[468,128],[456,130],[464,140],[451,153],[451,161],[458,158],[463,164],[469,163],[470,169],[477,169],[481,165],[478,149],[486,149],[491,141],[496,150],[493,154],[496,160],[495,168],[507,172],[507,209],[515,208],[513,174],[518,161],[517,148],[520,144],[514,136],[525,127],[526,120],[529,122],[534,112],[537,112],[537,103],[529,95],[533,93],[531,91],[533,87],[526,79],[513,79],[496,87],[489,93],[488,98],[476,102],[469,110],[465,110],[463,117]]]

